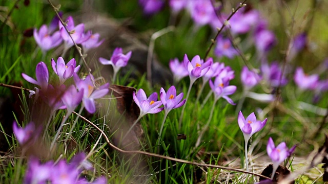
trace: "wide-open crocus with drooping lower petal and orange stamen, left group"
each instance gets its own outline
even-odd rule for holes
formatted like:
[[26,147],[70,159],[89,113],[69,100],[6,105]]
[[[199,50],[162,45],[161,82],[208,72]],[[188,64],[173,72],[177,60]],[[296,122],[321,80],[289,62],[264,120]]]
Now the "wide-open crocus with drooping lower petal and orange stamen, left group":
[[109,83],[106,83],[95,89],[95,86],[92,83],[94,80],[92,75],[88,75],[85,80],[80,79],[77,74],[74,74],[74,82],[76,88],[79,91],[83,91],[83,104],[89,113],[94,113],[96,111],[95,99],[99,99],[107,95],[109,89]]

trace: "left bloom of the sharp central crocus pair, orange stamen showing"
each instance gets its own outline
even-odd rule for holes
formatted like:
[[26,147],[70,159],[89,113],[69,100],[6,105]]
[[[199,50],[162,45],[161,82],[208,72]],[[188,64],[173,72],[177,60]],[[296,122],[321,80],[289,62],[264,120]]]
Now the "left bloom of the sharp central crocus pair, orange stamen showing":
[[140,108],[139,117],[145,116],[148,113],[158,113],[164,109],[164,107],[158,108],[162,105],[161,101],[157,101],[158,95],[156,92],[151,94],[147,98],[144,89],[139,89],[137,95],[133,92],[133,100]]

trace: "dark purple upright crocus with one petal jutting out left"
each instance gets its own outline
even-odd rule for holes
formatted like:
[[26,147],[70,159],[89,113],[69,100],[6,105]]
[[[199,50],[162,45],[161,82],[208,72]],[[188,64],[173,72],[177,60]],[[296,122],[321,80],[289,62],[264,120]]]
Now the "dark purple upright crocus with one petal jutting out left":
[[32,77],[22,73],[22,76],[25,80],[32,84],[36,84],[41,87],[41,89],[47,89],[48,82],[49,82],[49,72],[47,65],[44,62],[39,62],[35,68],[35,76],[36,80]]

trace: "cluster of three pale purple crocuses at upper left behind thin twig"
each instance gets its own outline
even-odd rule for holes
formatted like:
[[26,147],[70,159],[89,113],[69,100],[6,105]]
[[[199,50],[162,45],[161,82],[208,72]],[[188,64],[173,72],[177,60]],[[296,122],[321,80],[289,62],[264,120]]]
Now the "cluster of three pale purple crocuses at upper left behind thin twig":
[[[82,44],[84,52],[86,53],[91,48],[97,48],[104,40],[99,41],[99,34],[92,34],[91,31],[84,33],[84,24],[74,25],[74,20],[71,16],[66,19],[67,29],[69,33],[64,28],[64,25],[61,24],[59,18],[55,16],[49,26],[49,29],[46,25],[43,25],[39,31],[34,29],[33,35],[38,47],[45,54],[48,50],[57,47],[64,40],[64,54],[66,51],[71,48],[74,43]],[[59,31],[55,31],[58,28]],[[55,31],[55,32],[54,32]],[[72,38],[71,38],[72,37]],[[73,39],[73,40],[72,40]]]

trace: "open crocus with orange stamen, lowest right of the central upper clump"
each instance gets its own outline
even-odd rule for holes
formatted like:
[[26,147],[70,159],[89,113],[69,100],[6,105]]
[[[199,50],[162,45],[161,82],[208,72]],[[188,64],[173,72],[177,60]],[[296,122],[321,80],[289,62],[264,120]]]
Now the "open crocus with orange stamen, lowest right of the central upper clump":
[[228,78],[216,77],[214,83],[210,80],[210,87],[214,92],[215,100],[222,97],[226,99],[228,103],[235,105],[228,95],[234,94],[237,87],[234,85],[229,85],[229,81],[230,80]]

